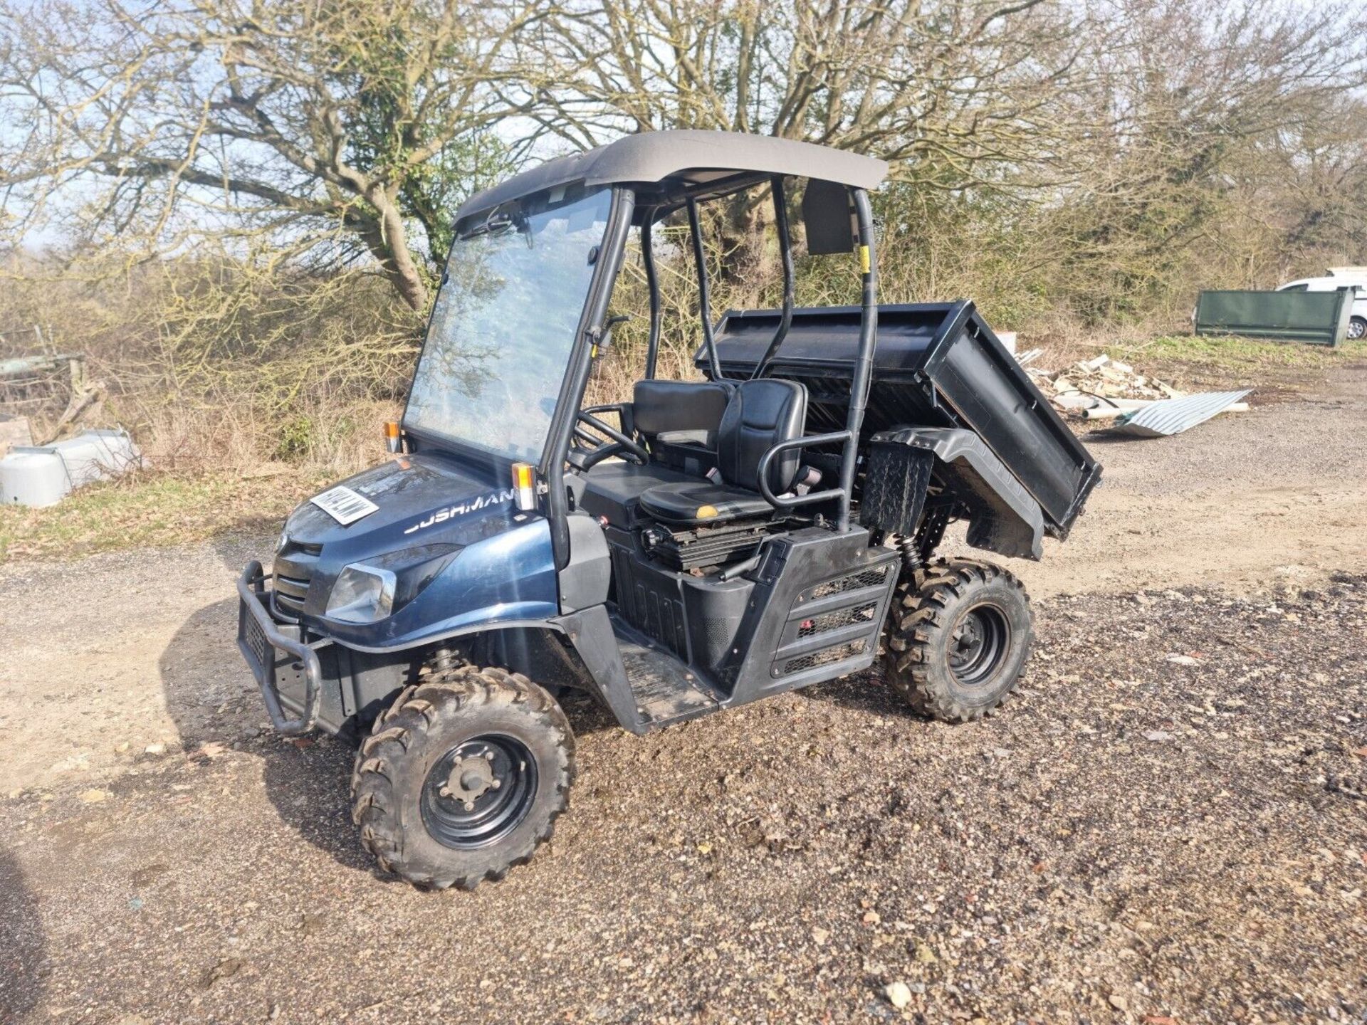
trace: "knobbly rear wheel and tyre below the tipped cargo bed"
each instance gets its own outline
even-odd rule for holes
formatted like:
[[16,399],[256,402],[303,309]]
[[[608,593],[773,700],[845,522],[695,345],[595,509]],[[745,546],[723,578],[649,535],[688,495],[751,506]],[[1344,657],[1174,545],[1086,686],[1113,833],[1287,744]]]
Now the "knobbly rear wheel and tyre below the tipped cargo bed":
[[1033,637],[1029,597],[987,562],[936,560],[898,584],[883,671],[921,715],[966,723],[1016,689]]

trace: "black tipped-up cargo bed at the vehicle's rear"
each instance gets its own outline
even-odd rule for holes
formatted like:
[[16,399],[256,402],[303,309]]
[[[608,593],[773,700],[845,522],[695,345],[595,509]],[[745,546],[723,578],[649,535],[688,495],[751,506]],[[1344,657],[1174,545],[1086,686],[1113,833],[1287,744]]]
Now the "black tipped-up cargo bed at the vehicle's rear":
[[[727,377],[749,377],[779,310],[733,310],[716,329]],[[767,377],[801,381],[808,433],[839,430],[858,351],[858,306],[793,310]],[[699,351],[696,362],[707,365]],[[968,299],[879,306],[861,441],[906,426],[972,430],[1039,503],[1046,533],[1065,537],[1100,465],[1068,429]]]

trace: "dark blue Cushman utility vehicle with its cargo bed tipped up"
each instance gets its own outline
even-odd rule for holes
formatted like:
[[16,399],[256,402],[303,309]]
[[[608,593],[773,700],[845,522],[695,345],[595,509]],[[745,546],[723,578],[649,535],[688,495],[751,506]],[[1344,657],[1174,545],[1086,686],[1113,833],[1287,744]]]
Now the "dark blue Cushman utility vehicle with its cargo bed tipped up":
[[[558,696],[636,734],[867,670],[917,711],[986,715],[1029,652],[1021,585],[968,544],[1040,556],[1100,467],[971,302],[878,306],[880,160],[668,131],[474,195],[395,456],[299,506],[238,585],[238,644],[275,727],[360,738],[353,815],[422,887],[502,879],[574,779]],[[794,309],[807,251],[846,254],[860,306]],[[699,205],[768,186],[778,310],[712,323]],[[652,226],[686,215],[701,381],[655,377]],[[649,343],[633,398],[585,407],[638,231]]]

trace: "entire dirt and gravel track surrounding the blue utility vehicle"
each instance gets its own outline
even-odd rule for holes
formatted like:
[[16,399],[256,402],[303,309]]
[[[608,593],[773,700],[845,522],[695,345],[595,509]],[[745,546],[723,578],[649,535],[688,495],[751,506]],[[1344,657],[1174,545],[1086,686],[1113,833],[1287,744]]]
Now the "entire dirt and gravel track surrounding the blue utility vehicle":
[[987,723],[872,676],[645,739],[576,705],[555,843],[474,895],[376,877],[349,753],[260,731],[268,541],[0,567],[0,1021],[897,1020],[894,980],[909,1020],[1363,1020],[1364,437],[1356,368],[1098,444]]

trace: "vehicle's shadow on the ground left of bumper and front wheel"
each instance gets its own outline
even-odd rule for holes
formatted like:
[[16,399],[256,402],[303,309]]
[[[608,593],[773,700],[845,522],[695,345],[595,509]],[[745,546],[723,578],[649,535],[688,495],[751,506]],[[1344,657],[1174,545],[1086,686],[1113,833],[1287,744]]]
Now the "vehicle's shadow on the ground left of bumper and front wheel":
[[265,794],[280,820],[347,868],[372,871],[350,815],[354,750],[310,735],[290,741],[269,727],[261,692],[236,646],[236,597],[189,616],[161,653],[167,712],[187,754],[223,745],[261,761]]

